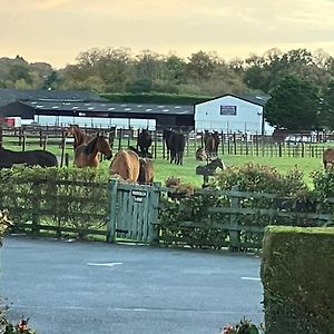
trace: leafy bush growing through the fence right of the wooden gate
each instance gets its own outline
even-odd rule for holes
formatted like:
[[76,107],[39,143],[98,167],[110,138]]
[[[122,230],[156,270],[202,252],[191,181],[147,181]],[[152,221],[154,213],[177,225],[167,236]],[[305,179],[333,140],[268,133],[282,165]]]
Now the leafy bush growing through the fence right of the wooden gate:
[[[159,216],[161,239],[168,245],[185,243],[191,247],[219,248],[228,245],[229,230],[224,229],[224,224],[229,224],[230,214],[213,213],[210,208],[230,207],[230,198],[215,191],[232,190],[233,186],[237,186],[240,191],[252,194],[273,194],[272,197],[249,195],[247,198],[238,199],[240,208],[256,208],[252,215],[236,215],[240,228],[243,226],[265,227],[271,224],[302,226],[314,224],[313,220],[303,217],[278,217],[274,214],[264,215],[261,212],[261,209],[313,210],[313,194],[303,181],[303,173],[295,168],[283,175],[273,167],[247,164],[217,174],[210,184],[209,190],[213,191],[195,191],[193,196],[176,200],[169,198]],[[240,244],[261,246],[263,233],[246,229],[244,230],[242,228],[238,233]]]

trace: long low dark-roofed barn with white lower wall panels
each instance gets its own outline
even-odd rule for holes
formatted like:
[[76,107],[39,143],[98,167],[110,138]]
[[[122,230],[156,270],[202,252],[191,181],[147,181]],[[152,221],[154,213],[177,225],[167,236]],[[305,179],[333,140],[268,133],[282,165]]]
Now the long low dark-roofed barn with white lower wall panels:
[[8,117],[48,126],[194,128],[194,106],[112,104],[81,91],[0,89],[0,119]]

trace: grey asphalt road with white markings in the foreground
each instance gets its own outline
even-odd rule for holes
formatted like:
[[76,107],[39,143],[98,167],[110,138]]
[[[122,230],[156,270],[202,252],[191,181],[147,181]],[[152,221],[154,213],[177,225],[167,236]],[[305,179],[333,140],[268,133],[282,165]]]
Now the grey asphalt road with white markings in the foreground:
[[214,334],[259,323],[259,258],[193,249],[7,237],[0,295],[38,334]]

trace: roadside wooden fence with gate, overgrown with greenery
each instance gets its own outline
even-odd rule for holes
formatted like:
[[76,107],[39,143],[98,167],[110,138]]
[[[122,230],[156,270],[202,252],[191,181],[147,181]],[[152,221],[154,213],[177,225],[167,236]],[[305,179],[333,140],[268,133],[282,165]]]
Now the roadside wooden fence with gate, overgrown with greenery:
[[[333,207],[317,212],[307,203],[273,194],[202,189],[176,198],[155,184],[139,186],[88,181],[0,183],[0,209],[8,209],[16,232],[57,237],[97,235],[109,242],[130,240],[190,247],[261,248],[265,226],[326,226]],[[176,194],[181,195],[181,194]],[[170,199],[174,197],[176,199]],[[328,198],[333,204],[334,199]]]

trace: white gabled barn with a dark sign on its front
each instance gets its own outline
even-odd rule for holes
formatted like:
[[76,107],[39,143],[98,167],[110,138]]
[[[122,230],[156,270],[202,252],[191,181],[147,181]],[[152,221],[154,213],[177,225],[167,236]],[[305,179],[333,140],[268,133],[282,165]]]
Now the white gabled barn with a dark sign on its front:
[[195,129],[272,135],[264,119],[267,96],[223,95],[195,105]]

